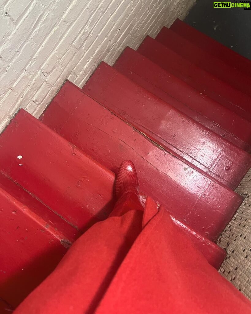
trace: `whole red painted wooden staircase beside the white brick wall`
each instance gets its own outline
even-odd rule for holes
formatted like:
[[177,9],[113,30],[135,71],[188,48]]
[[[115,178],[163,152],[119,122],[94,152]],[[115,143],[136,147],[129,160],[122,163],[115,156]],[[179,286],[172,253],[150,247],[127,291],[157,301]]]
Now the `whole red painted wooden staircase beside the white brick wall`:
[[1,313],[108,217],[125,159],[142,202],[164,206],[220,267],[226,253],[214,242],[251,166],[251,98],[250,62],[219,45],[177,20],[114,67],[102,62],[82,90],[66,81],[40,121],[24,110],[12,119],[0,136]]

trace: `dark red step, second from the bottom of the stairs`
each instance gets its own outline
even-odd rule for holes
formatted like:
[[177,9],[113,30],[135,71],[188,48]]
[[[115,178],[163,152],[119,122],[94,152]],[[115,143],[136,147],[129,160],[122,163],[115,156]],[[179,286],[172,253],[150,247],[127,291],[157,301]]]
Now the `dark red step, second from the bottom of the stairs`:
[[[249,75],[238,71],[233,66],[229,66],[221,59],[214,57],[209,52],[194,45],[184,37],[166,27],[162,28],[157,35],[156,40],[190,62],[193,62],[198,67],[203,68],[207,72],[215,75],[217,78],[220,78],[222,81],[227,82],[234,88],[251,96],[251,77]],[[248,108],[242,108],[249,114],[251,113],[250,106]]]

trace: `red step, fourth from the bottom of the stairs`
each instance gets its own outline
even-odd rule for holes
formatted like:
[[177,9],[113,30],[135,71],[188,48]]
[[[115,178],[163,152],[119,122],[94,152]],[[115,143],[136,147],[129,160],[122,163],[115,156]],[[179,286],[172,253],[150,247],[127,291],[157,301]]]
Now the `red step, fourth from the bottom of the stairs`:
[[123,75],[184,114],[251,152],[251,122],[127,47],[113,66]]

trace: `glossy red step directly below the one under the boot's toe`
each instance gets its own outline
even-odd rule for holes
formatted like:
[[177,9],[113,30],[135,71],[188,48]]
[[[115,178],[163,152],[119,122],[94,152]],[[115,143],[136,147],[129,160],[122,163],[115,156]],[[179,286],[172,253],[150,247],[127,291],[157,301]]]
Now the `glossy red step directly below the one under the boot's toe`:
[[251,166],[251,156],[190,119],[170,104],[101,62],[85,93],[141,127],[179,156],[234,189]]

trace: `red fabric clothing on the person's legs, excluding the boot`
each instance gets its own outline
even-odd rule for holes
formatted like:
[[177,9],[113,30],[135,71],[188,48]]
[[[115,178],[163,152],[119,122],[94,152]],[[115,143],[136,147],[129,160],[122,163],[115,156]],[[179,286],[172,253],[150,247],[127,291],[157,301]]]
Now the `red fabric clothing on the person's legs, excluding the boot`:
[[147,199],[126,193],[15,314],[246,314],[251,306]]

